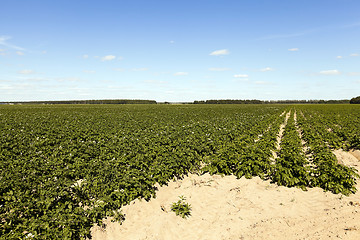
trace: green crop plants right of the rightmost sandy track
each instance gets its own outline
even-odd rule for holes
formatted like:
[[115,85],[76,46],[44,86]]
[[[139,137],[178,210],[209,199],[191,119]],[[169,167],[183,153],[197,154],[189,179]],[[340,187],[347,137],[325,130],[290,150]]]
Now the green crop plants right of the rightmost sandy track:
[[[299,125],[309,146],[314,167],[309,170],[311,187],[349,195],[356,192],[356,169],[338,164],[331,148],[348,148],[353,137],[359,136],[359,109],[356,106],[312,106],[302,108]],[[351,120],[350,120],[351,119]],[[332,143],[337,143],[336,145]]]

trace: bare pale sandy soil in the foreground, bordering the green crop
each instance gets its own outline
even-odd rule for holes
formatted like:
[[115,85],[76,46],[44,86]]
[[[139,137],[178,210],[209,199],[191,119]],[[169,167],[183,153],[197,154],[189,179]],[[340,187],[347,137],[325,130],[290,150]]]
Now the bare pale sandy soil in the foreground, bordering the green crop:
[[[360,171],[360,152],[335,151]],[[358,180],[360,182],[360,180]],[[123,207],[122,225],[106,220],[92,228],[93,239],[360,239],[360,184],[349,197],[320,188],[302,191],[260,178],[189,175],[159,188],[157,198]],[[182,219],[170,205],[183,195],[191,216]]]

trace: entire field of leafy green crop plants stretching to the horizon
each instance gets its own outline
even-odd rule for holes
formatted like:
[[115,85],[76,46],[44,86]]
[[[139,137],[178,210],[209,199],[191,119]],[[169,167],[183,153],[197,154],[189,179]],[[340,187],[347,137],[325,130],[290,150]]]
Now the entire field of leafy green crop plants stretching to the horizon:
[[79,239],[189,172],[350,195],[354,105],[0,106],[2,239]]

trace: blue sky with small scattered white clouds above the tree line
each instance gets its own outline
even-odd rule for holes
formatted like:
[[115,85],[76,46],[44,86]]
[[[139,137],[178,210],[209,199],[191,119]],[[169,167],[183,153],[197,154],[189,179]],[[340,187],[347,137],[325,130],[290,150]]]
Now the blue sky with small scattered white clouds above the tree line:
[[1,0],[0,101],[351,99],[359,0]]

